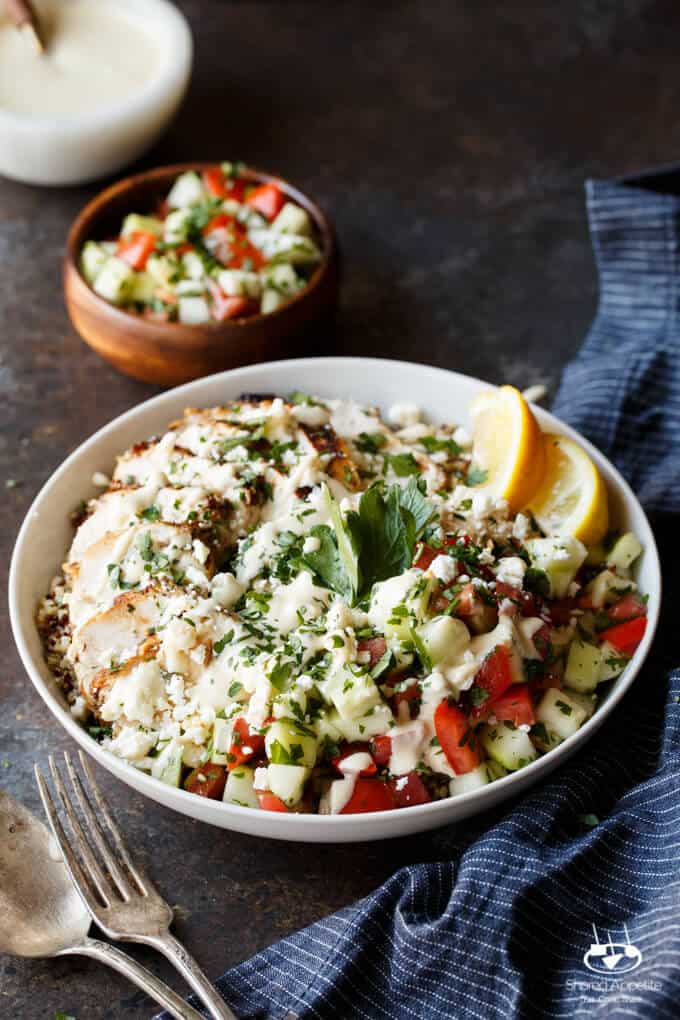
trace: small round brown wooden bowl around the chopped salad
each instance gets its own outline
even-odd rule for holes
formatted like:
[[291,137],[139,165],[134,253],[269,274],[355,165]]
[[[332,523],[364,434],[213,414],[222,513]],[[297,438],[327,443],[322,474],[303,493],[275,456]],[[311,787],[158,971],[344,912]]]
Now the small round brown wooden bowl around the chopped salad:
[[292,201],[307,210],[323,259],[307,287],[268,315],[185,325],[152,322],[109,304],[92,290],[80,269],[86,241],[116,237],[123,216],[144,213],[165,197],[185,170],[214,163],[179,163],[126,177],[97,195],[71,226],[64,258],[64,295],[73,326],[86,344],[119,371],[145,382],[173,386],[224,368],[296,357],[310,352],[314,325],[337,300],[338,256],[333,230],[324,213],[286,181],[246,167],[253,183],[274,181]]

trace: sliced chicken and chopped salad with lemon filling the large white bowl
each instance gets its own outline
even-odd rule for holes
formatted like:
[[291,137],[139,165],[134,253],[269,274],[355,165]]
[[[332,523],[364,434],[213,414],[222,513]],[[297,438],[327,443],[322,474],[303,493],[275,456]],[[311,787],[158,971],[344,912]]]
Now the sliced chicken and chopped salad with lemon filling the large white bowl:
[[646,604],[594,465],[527,410],[495,391],[469,436],[249,396],[122,453],[39,610],[73,715],[162,782],[277,812],[427,804],[550,752]]

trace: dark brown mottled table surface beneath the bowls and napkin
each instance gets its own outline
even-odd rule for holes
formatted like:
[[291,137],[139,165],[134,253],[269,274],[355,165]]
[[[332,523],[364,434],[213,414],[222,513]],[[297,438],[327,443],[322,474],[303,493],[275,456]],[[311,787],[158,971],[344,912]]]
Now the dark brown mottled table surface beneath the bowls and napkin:
[[[680,151],[680,8],[671,0],[536,3],[182,0],[196,38],[187,102],[144,165],[240,157],[315,196],[337,226],[335,348],[554,387],[592,316],[582,183]],[[0,543],[62,458],[154,389],[71,329],[66,228],[93,188],[0,182]],[[319,337],[319,351],[328,338]],[[0,785],[38,809],[33,762],[69,741],[14,652],[3,584]],[[257,844],[171,814],[102,776],[134,846],[217,975],[446,853],[441,830],[356,847]],[[137,950],[135,952],[138,952]],[[138,953],[158,973],[169,968]],[[0,1016],[148,1017],[86,961],[0,958]]]

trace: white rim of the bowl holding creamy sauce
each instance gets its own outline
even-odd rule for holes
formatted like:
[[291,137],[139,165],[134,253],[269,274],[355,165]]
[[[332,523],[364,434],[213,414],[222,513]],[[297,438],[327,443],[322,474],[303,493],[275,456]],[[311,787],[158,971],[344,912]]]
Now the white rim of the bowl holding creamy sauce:
[[[105,106],[101,112],[83,114],[66,114],[58,116],[33,116],[5,110],[0,106],[0,124],[4,121],[19,131],[33,132],[50,130],[55,133],[81,132],[84,129],[105,129],[120,120],[134,117],[147,107],[155,105],[168,93],[181,90],[191,71],[194,55],[194,41],[189,21],[170,0],[97,0],[104,6],[117,9],[123,17],[142,24],[140,6],[143,4],[151,13],[152,8],[159,20],[162,20],[170,33],[170,44],[160,50],[161,61],[158,74],[138,95],[116,105]],[[144,28],[144,27],[143,27]],[[153,28],[153,27],[151,27]],[[148,33],[149,30],[144,29]],[[170,51],[170,46],[172,51]]]

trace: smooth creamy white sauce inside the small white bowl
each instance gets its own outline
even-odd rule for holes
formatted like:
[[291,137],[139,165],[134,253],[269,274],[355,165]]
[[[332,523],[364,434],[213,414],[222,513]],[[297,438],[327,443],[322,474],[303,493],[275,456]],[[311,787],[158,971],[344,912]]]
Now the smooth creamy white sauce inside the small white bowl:
[[120,105],[158,73],[152,32],[102,0],[36,4],[46,42],[41,56],[0,15],[0,110],[72,116]]

